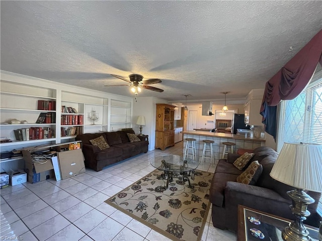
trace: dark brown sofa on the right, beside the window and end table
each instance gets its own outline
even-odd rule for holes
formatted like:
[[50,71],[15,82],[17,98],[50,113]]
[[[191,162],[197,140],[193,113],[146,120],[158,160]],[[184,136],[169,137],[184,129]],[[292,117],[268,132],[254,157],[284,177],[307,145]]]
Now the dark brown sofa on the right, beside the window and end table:
[[[289,208],[291,199],[286,191],[295,188],[278,182],[269,175],[278,153],[269,147],[256,148],[254,153],[250,163],[258,160],[263,166],[263,172],[255,185],[236,182],[243,171],[239,171],[232,163],[240,155],[228,154],[227,160],[219,160],[210,187],[212,222],[215,227],[236,231],[238,204],[294,220]],[[308,205],[311,215],[304,223],[318,227],[321,217],[316,209],[321,194],[311,191],[307,193],[315,202]]]

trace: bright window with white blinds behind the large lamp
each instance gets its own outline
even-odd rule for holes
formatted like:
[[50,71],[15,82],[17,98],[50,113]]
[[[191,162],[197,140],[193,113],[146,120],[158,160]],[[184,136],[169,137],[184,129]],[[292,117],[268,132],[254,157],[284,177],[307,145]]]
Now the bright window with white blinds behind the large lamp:
[[[282,100],[279,108],[277,152],[284,142],[322,144],[322,71],[296,98]],[[322,197],[318,212],[322,215]]]

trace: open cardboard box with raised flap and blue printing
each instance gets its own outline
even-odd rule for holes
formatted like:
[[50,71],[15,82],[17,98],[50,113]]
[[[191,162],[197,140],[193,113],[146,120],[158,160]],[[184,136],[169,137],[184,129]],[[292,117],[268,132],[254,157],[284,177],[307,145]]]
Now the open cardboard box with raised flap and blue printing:
[[25,159],[25,171],[28,176],[28,182],[36,183],[54,177],[54,167],[51,159],[47,159],[45,163],[40,164],[33,162],[31,153],[29,151],[23,150],[22,153]]

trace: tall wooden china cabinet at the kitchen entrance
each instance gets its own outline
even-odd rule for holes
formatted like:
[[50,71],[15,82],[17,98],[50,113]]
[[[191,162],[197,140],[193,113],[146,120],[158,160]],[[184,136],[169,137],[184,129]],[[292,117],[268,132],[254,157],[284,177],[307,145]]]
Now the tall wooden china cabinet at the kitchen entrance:
[[175,105],[156,104],[155,149],[165,150],[175,145]]

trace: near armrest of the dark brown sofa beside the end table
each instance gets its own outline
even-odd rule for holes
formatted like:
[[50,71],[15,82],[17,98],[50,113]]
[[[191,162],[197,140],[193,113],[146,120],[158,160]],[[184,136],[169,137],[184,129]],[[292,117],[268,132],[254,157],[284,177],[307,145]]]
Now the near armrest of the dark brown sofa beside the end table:
[[291,199],[285,199],[271,189],[239,182],[226,182],[225,200],[226,202],[229,201],[233,204],[241,204],[248,207],[252,207],[254,202],[267,203],[274,201],[291,203]]

